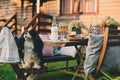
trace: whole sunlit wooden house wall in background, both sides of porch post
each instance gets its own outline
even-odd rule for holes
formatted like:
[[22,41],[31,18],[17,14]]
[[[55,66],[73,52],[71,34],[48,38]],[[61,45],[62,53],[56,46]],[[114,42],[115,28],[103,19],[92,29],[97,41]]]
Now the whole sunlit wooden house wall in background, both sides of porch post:
[[[0,12],[3,17],[11,12],[17,12],[18,24],[24,26],[31,19],[32,0],[1,0]],[[90,24],[97,24],[105,16],[115,18],[120,21],[120,0],[41,0],[40,13],[57,16],[58,21],[81,20],[87,27]],[[11,6],[12,5],[12,6]],[[5,13],[5,14],[4,14]],[[96,16],[94,16],[96,15]]]

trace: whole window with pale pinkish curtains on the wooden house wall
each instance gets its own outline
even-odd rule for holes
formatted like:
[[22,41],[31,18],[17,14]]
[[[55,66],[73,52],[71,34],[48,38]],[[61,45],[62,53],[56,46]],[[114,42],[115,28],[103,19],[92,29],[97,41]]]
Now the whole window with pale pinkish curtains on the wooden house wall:
[[61,0],[61,14],[96,13],[98,0]]

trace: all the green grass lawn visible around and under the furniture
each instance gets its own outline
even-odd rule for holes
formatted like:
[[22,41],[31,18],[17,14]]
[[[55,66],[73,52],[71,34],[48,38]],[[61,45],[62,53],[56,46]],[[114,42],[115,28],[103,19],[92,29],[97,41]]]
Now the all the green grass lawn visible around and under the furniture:
[[[76,65],[75,61],[70,62],[70,66]],[[49,69],[56,67],[63,67],[64,62],[50,63]],[[38,80],[71,80],[73,77],[74,71],[54,71],[54,72],[45,72],[41,74]],[[119,74],[118,74],[119,75]],[[84,75],[78,74],[76,80],[83,80]],[[114,75],[112,75],[114,77]],[[0,80],[17,80],[14,71],[12,70],[9,64],[0,64]],[[109,79],[97,79],[97,80],[109,80]],[[120,80],[114,79],[114,80]]]

